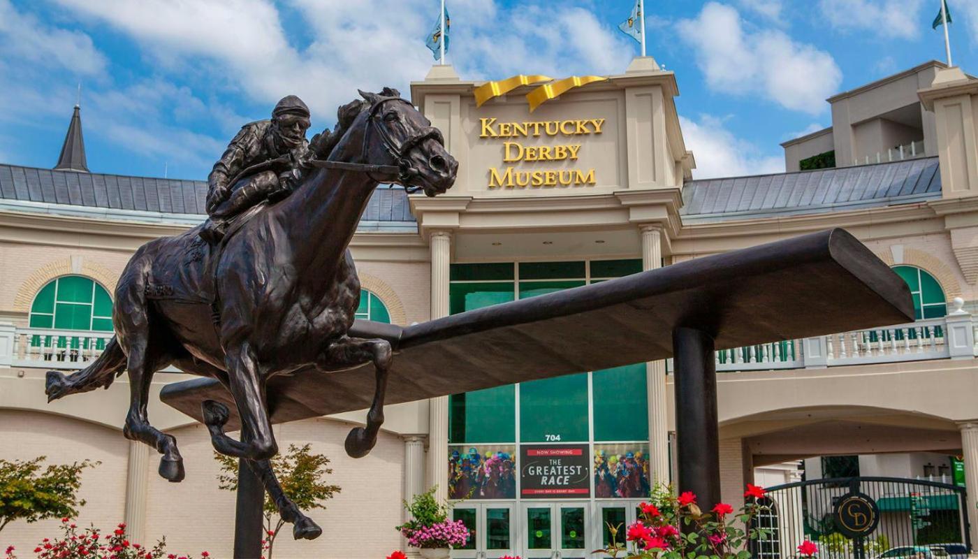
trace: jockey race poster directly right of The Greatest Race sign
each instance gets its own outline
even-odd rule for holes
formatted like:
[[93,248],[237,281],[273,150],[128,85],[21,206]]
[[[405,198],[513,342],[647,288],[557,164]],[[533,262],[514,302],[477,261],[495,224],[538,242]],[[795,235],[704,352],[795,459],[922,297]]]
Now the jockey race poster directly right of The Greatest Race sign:
[[595,444],[595,498],[644,498],[648,483],[648,444]]

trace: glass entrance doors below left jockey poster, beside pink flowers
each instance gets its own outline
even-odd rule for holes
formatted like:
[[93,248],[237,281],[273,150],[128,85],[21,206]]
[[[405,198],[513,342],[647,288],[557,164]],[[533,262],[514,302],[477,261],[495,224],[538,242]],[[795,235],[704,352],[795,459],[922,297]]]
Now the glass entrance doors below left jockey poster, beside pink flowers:
[[516,519],[512,503],[461,503],[452,509],[452,520],[469,530],[465,547],[452,551],[453,559],[499,559],[514,555]]

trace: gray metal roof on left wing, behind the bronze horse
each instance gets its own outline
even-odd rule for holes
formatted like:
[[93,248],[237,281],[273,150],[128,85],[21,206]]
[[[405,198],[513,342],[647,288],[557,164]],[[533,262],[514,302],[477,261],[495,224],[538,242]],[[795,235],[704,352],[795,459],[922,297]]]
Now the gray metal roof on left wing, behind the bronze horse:
[[[207,183],[0,164],[0,201],[111,210],[204,214]],[[368,221],[415,221],[401,188],[374,191],[363,215]]]

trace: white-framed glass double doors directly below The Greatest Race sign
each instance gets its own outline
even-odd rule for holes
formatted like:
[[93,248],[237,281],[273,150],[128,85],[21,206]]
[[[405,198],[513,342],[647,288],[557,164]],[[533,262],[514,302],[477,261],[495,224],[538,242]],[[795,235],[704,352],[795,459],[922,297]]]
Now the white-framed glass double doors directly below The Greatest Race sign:
[[521,506],[523,559],[587,559],[591,503],[527,503]]

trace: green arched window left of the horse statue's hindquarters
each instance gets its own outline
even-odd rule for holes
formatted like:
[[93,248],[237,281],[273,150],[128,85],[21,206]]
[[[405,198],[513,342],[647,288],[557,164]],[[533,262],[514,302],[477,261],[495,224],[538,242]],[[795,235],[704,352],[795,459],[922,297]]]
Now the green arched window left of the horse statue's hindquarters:
[[48,282],[30,304],[31,328],[111,332],[109,292],[84,276],[62,276]]

